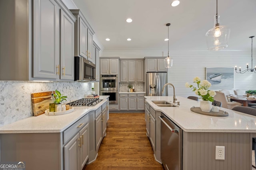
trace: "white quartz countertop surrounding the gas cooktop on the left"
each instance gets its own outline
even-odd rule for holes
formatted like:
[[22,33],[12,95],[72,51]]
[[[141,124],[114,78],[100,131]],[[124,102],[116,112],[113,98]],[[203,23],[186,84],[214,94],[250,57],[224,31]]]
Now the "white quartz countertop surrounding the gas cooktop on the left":
[[60,133],[92,110],[98,109],[109,96],[95,106],[74,107],[74,111],[65,115],[48,116],[45,114],[32,116],[0,127],[0,133]]

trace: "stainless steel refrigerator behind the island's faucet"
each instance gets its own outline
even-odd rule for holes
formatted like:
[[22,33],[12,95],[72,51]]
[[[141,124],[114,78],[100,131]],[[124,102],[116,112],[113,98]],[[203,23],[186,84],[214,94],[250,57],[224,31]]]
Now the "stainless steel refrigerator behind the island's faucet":
[[147,72],[147,95],[146,96],[168,96],[168,88],[162,94],[162,88],[167,83],[166,72]]

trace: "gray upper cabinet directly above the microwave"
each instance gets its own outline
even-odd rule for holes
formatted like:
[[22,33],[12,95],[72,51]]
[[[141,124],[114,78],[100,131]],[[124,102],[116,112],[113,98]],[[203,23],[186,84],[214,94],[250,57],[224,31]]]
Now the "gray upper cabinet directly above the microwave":
[[95,64],[93,51],[94,31],[81,10],[70,10],[76,17],[75,23],[75,56],[84,57]]

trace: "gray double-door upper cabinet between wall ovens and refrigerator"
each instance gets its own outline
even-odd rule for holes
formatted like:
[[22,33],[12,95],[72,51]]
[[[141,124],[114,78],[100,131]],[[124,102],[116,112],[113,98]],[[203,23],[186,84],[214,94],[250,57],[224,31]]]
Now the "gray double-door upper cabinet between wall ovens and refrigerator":
[[144,82],[143,60],[120,60],[120,82]]

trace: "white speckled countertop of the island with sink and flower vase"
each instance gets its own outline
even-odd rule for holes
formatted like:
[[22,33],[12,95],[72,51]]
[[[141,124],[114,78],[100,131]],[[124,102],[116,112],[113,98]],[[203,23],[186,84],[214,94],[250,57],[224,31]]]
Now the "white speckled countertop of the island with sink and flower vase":
[[186,132],[245,132],[256,133],[256,116],[233,111],[219,107],[220,110],[227,111],[227,117],[216,117],[202,115],[190,111],[190,108],[200,106],[200,101],[191,100],[176,96],[180,102],[179,107],[158,107],[152,101],[166,100],[173,102],[173,96],[145,96],[155,110],[163,112],[169,119],[176,123]]

